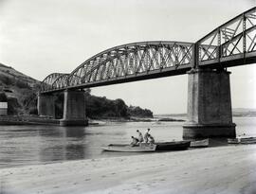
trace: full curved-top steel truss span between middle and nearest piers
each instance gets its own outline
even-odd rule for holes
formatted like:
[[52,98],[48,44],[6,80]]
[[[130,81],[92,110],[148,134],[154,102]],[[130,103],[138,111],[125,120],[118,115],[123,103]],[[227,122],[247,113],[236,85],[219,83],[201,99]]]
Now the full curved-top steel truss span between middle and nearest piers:
[[192,44],[147,42],[124,44],[105,50],[83,62],[68,77],[68,86],[101,85],[178,73],[191,67]]

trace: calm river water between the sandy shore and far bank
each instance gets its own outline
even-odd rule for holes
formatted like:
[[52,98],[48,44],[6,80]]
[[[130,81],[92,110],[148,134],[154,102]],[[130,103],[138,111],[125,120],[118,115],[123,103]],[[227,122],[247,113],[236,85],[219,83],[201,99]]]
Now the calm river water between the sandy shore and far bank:
[[[256,117],[234,117],[237,135],[256,136]],[[67,160],[122,156],[101,151],[111,143],[129,143],[137,129],[151,129],[156,141],[182,139],[183,122],[106,122],[90,127],[0,126],[0,168]],[[133,153],[136,154],[136,153]]]

